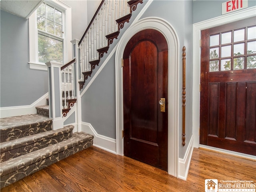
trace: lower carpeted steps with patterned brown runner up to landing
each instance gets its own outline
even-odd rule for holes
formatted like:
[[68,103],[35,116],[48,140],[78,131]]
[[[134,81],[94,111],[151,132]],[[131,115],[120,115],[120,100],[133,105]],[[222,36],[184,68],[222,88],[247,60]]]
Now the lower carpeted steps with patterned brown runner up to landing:
[[1,118],[0,188],[93,145],[93,135],[73,129],[52,130],[52,120],[39,114]]

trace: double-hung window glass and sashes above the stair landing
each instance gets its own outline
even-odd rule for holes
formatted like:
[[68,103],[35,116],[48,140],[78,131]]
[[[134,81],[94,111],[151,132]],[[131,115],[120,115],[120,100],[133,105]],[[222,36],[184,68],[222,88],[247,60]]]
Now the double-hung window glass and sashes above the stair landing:
[[38,61],[63,63],[62,12],[47,3],[37,9]]

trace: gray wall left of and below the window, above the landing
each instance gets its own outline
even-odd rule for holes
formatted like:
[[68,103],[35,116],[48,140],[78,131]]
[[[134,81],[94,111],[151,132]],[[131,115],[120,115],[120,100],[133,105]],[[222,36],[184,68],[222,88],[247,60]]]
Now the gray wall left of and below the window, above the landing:
[[47,71],[29,68],[28,20],[0,14],[0,106],[30,105],[48,92]]

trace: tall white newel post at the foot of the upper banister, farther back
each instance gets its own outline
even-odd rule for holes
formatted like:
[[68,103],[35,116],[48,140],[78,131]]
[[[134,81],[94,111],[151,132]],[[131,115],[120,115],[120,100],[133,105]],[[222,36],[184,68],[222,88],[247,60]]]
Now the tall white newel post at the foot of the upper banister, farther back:
[[72,43],[72,58],[76,58],[76,63],[74,63],[74,68],[75,68],[75,77],[74,77],[74,82],[75,82],[75,92],[76,92],[76,128],[77,131],[81,131],[81,123],[82,123],[82,107],[81,107],[81,97],[80,97],[80,88],[79,88],[79,79],[80,76],[82,75],[81,71],[81,66],[80,66],[80,49],[78,48],[78,39],[74,39],[71,41]]

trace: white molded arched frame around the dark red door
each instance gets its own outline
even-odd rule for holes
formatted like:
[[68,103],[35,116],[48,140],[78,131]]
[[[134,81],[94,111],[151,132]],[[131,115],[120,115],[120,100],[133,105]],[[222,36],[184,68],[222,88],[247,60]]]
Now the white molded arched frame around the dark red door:
[[115,79],[116,79],[116,152],[124,155],[122,138],[123,130],[123,74],[122,57],[126,44],[137,32],[145,29],[154,29],[161,32],[168,44],[168,173],[178,176],[178,142],[179,142],[179,51],[178,35],[172,25],[166,20],[157,17],[143,18],[132,24],[122,35],[116,46]]

